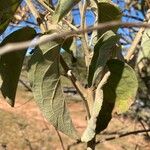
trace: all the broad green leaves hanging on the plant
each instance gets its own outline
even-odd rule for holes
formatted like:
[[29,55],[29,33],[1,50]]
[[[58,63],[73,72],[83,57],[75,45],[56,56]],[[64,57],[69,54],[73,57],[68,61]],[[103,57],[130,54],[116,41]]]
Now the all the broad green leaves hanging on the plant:
[[[52,14],[52,23],[57,25],[61,22],[79,1],[59,0]],[[1,2],[0,14],[5,14],[0,16],[0,19],[3,20],[0,23],[1,34],[8,26],[20,2],[20,0]],[[94,1],[91,1],[92,3]],[[94,9],[91,7],[91,10],[96,12],[98,23],[121,20],[122,17],[118,6],[110,0],[99,0],[96,5],[94,3]],[[59,40],[37,45],[29,62],[29,80],[32,84],[35,101],[44,116],[56,129],[72,138],[81,139],[83,142],[92,140],[96,134],[104,130],[110,122],[113,112],[126,111],[136,94],[137,78],[134,70],[120,57],[121,46],[117,30],[117,27],[113,27],[110,30],[98,31],[96,35],[93,57],[87,69],[87,88],[94,89],[92,92],[95,96],[92,110],[90,110],[91,117],[82,138],[71,121],[60,82],[60,50],[63,48],[72,54],[71,46],[68,44],[70,42],[65,42],[66,38],[62,37]],[[52,34],[52,32],[46,34]],[[35,35],[36,32],[33,28],[25,27],[7,36],[1,46],[30,40]],[[73,40],[71,39],[71,41]],[[11,106],[14,106],[15,103],[16,89],[25,53],[26,49],[4,54],[0,58],[0,73],[3,79],[1,91]],[[107,83],[99,89],[99,84],[107,71],[110,71]],[[81,94],[85,95],[85,93]],[[90,99],[87,98],[88,100]]]

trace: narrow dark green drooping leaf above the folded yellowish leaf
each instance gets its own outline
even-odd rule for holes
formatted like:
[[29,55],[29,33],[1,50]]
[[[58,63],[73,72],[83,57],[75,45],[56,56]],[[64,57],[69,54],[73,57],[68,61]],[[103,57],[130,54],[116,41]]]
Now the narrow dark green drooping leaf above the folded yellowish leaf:
[[102,70],[106,65],[112,47],[119,41],[119,37],[113,31],[107,31],[97,41],[94,46],[94,55],[89,66],[88,86],[96,83],[96,79],[101,76]]

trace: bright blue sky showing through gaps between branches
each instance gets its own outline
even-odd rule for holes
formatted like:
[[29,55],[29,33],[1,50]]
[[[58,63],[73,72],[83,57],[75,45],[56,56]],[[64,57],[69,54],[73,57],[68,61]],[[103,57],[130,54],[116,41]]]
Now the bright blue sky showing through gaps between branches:
[[[56,4],[56,1],[57,0],[54,0],[55,4]],[[113,0],[113,1],[115,3],[118,3],[118,0]],[[133,10],[133,8],[131,8],[130,12],[128,10],[126,10],[125,9],[125,5],[124,5],[124,1],[120,0],[118,4],[119,4],[119,7],[122,10],[122,12],[123,12],[124,15],[132,15],[133,17],[139,17],[140,19],[143,19],[143,14],[141,12],[135,11],[135,10]],[[80,25],[80,13],[79,13],[79,10],[78,9],[74,9],[72,11],[72,15],[74,16],[74,23],[76,25]],[[94,16],[93,12],[91,12],[90,10],[87,10],[87,12],[86,12],[86,23],[87,23],[87,26],[93,25],[94,20],[95,20],[95,16]],[[28,21],[29,22],[34,22],[36,24],[36,21],[35,21],[35,19],[34,19],[34,17],[32,15],[31,15],[30,18],[28,18]],[[133,18],[129,18],[129,17],[122,17],[122,21],[125,21],[125,22],[127,22],[127,21],[128,22],[135,22],[137,20],[135,20]],[[33,25],[29,24],[29,23],[22,22],[21,24],[19,24],[18,27],[15,27],[15,28],[12,27],[12,26],[9,26],[6,29],[6,31],[4,32],[4,34],[0,36],[0,41],[2,41],[2,39],[4,39],[8,34],[14,32],[15,30],[17,30],[17,29],[19,29],[19,28],[21,28],[23,26],[26,26],[26,25],[31,26],[31,27],[35,28],[35,30],[37,32],[40,32],[40,30],[39,30],[38,27],[33,26]],[[126,29],[125,28],[124,29],[119,29],[118,33],[126,36],[126,35],[130,34],[130,29],[127,29],[127,28]]]

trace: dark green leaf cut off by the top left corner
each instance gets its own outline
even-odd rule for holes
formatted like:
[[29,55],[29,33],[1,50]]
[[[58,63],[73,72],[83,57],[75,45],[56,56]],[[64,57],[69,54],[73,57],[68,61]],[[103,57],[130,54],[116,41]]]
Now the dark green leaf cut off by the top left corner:
[[22,0],[0,0],[0,34],[7,28]]

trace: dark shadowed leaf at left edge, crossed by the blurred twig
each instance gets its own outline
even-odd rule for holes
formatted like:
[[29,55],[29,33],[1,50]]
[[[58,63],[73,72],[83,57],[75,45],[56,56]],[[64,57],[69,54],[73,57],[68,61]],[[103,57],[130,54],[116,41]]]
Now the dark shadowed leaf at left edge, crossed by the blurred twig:
[[[35,34],[34,29],[29,27],[19,29],[8,35],[1,43],[1,46],[7,43],[31,40]],[[19,50],[4,54],[0,58],[0,73],[3,80],[1,91],[11,106],[14,106],[16,89],[25,53],[26,49],[23,49],[22,51]]]

